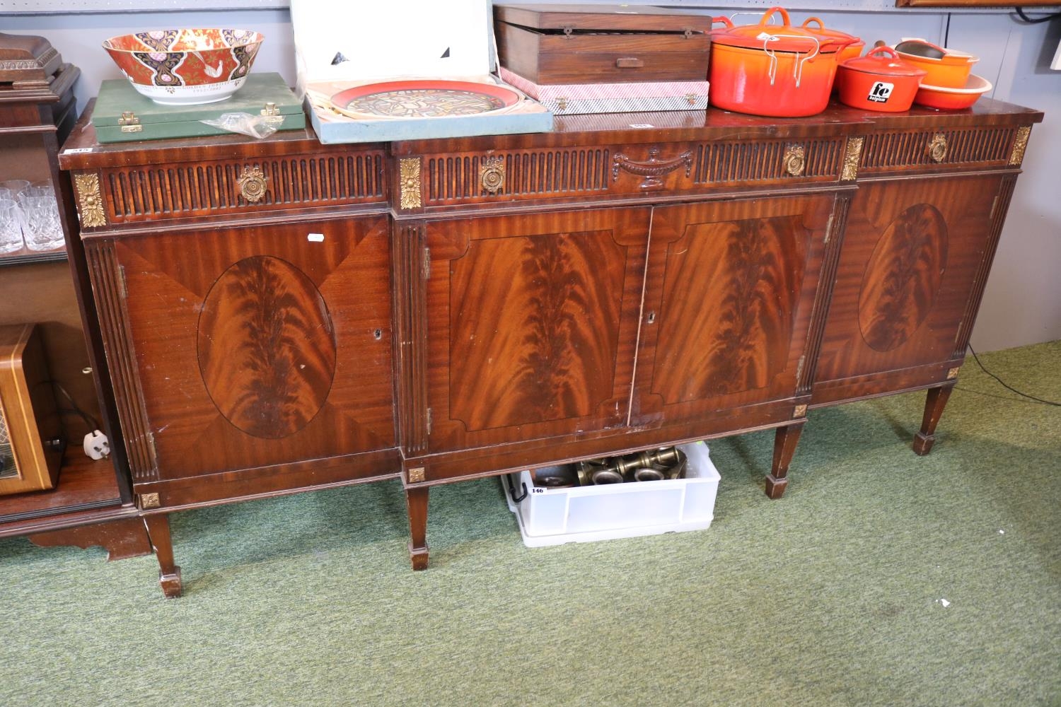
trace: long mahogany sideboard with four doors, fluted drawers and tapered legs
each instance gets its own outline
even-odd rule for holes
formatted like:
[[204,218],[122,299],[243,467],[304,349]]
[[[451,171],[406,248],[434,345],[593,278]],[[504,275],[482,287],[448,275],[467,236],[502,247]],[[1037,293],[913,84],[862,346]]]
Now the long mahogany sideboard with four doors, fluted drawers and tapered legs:
[[432,485],[777,429],[928,389],[927,452],[1031,124],[955,113],[558,118],[541,135],[311,131],[60,155],[163,589],[167,516]]

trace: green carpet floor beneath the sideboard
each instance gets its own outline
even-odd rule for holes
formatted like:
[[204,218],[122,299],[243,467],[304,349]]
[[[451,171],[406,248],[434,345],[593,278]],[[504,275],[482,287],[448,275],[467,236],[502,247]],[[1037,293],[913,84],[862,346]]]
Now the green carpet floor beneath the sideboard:
[[[981,356],[1061,400],[1061,341]],[[1061,705],[1061,409],[970,359],[923,394],[711,445],[709,530],[527,549],[498,481],[432,491],[408,568],[387,482],[173,516],[152,556],[0,542],[0,705]],[[942,600],[949,602],[944,606]]]

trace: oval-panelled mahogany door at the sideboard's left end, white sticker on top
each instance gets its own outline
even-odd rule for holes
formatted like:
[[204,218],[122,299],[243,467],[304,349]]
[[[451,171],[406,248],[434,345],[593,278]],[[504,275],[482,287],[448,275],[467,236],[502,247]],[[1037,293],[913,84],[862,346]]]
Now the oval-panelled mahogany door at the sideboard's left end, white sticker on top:
[[379,215],[115,241],[159,479],[395,445],[387,229]]

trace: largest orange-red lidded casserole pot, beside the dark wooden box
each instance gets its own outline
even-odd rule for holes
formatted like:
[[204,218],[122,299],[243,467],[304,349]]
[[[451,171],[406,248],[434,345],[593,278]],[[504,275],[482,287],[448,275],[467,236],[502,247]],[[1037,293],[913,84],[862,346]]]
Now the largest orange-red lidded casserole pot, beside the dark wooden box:
[[[780,13],[783,23],[767,22]],[[829,105],[836,75],[836,53],[854,37],[818,36],[794,28],[783,7],[771,7],[759,24],[727,26],[711,33],[711,105],[754,116],[796,118],[820,113]]]

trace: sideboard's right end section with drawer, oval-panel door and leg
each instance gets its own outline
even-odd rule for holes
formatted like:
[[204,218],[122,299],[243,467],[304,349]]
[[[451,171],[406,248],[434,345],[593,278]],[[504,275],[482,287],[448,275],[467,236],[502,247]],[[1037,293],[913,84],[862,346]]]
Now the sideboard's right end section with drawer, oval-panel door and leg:
[[859,156],[814,406],[929,390],[927,454],[964,359],[1029,127],[879,121]]

